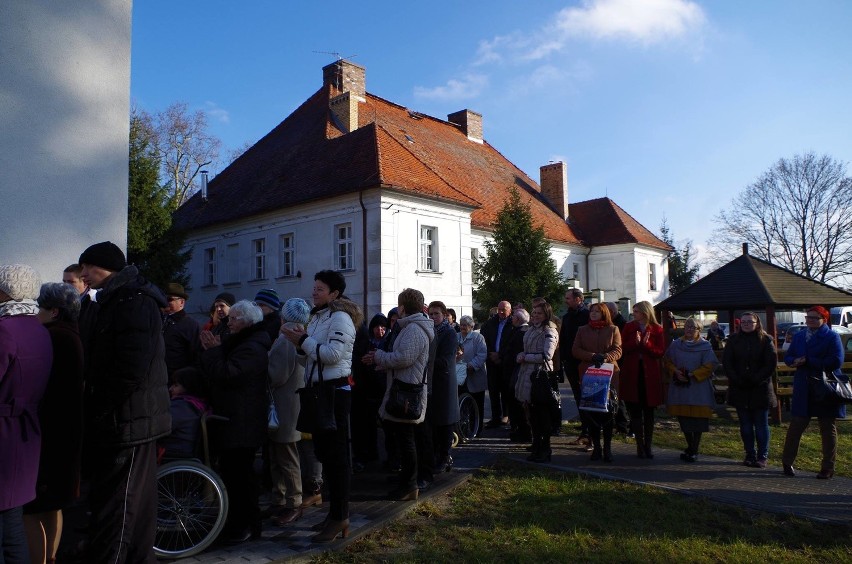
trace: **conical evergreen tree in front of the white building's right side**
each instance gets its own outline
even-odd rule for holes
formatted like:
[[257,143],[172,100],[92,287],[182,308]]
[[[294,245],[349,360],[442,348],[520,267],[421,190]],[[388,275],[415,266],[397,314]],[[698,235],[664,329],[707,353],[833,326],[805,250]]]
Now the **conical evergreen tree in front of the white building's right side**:
[[485,242],[485,254],[474,261],[473,299],[486,312],[501,300],[531,307],[534,297],[543,297],[558,310],[566,284],[550,257],[544,228],[535,227],[529,203],[517,189],[497,215],[493,240]]

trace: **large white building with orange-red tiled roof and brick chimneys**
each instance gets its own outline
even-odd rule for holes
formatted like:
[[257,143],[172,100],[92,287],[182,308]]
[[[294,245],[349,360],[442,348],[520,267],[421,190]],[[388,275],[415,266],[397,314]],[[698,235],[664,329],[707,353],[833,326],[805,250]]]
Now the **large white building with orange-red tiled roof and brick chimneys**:
[[222,291],[309,299],[314,273],[333,268],[368,318],[407,287],[469,314],[472,257],[513,187],[566,278],[608,301],[668,295],[668,245],[608,198],[569,206],[564,163],[539,184],[483,139],[479,114],[444,121],[364,85],[358,65],[324,67],[322,88],[175,213],[194,312]]

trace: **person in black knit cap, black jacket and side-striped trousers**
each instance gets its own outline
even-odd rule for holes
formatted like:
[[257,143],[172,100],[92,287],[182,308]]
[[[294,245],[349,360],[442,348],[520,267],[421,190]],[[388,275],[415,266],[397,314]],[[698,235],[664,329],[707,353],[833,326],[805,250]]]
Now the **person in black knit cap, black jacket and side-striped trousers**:
[[87,341],[84,397],[92,469],[87,562],[155,562],[157,448],[171,431],[162,292],[109,241],[80,255],[100,290]]

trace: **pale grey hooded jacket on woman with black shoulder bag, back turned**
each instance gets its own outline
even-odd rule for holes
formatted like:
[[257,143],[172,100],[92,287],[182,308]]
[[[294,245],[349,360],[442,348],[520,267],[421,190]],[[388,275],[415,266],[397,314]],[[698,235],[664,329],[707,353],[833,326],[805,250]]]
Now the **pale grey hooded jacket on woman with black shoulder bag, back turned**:
[[[423,382],[423,374],[429,363],[429,344],[435,338],[435,323],[423,313],[415,313],[402,317],[397,321],[399,335],[393,342],[390,351],[377,350],[375,361],[379,368],[387,370],[387,390],[379,408],[379,416],[397,423],[422,423],[426,417],[424,409],[416,421],[397,419],[385,412],[385,404],[394,378],[409,384]],[[426,405],[426,388],[423,386],[421,399]]]

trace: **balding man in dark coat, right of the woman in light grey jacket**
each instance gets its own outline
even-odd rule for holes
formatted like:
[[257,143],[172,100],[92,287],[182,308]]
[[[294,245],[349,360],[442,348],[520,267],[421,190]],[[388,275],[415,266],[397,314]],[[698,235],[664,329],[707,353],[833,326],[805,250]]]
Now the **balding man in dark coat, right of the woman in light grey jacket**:
[[500,351],[509,342],[512,332],[511,317],[512,304],[502,301],[497,304],[497,314],[482,326],[481,333],[488,348],[485,369],[488,372],[488,397],[491,400],[491,420],[485,425],[487,429],[500,427],[508,422],[509,382],[503,375]]

